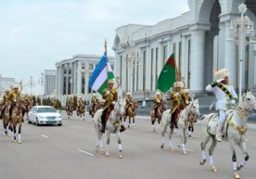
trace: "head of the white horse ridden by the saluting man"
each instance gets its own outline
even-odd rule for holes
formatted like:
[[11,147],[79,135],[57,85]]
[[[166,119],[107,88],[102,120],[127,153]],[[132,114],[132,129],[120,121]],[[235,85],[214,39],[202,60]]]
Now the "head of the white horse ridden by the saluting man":
[[246,110],[256,110],[256,100],[255,96],[252,95],[251,90],[242,96],[242,101],[239,106]]

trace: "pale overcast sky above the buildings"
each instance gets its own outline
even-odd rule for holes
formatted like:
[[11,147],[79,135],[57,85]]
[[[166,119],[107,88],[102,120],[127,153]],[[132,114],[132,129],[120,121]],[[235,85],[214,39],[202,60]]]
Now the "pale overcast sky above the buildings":
[[41,72],[76,54],[111,50],[115,31],[154,25],[188,11],[187,0],[0,0],[0,74],[37,82]]

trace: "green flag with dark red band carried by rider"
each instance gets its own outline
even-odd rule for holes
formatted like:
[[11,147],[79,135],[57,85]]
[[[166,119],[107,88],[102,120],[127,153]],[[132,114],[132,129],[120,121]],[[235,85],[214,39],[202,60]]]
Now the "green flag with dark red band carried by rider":
[[160,77],[157,83],[157,89],[161,92],[167,92],[176,81],[176,65],[174,54],[168,58],[163,69],[160,71]]

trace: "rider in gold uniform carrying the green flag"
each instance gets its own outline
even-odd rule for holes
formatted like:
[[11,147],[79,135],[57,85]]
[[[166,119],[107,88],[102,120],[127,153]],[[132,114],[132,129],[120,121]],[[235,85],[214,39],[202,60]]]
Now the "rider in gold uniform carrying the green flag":
[[182,104],[188,104],[188,99],[185,93],[182,91],[183,84],[182,82],[173,83],[173,91],[171,92],[171,100],[173,101],[173,106],[171,109],[171,128],[175,126],[178,128],[175,117],[179,112],[179,108]]

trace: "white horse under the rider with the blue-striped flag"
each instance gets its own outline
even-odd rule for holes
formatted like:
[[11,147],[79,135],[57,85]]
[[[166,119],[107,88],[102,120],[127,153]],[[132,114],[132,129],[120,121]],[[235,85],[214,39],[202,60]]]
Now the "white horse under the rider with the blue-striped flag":
[[[96,127],[96,134],[97,134],[97,141],[96,141],[96,152],[103,153],[103,146],[102,146],[102,135],[103,133],[100,132],[101,128],[101,114],[103,109],[98,109],[95,113],[93,121]],[[107,145],[105,147],[105,155],[109,157],[109,143],[110,143],[110,134],[116,134],[118,144],[119,144],[119,158],[122,158],[122,141],[120,138],[120,129],[121,129],[121,119],[124,112],[124,107],[122,101],[118,101],[114,109],[111,111],[109,120],[106,122],[106,131],[107,131]]]

